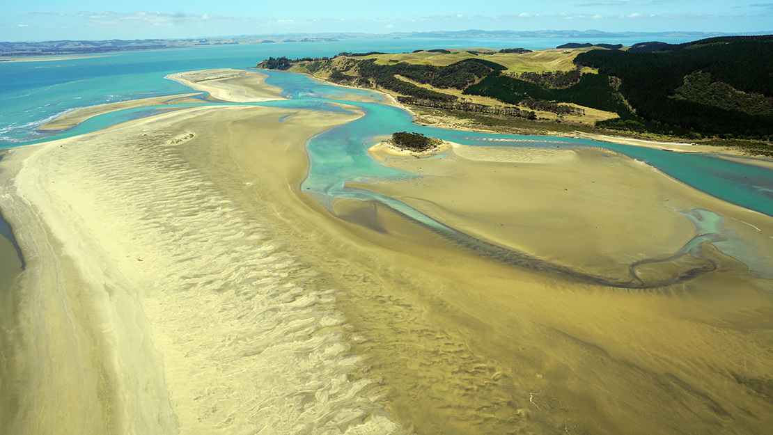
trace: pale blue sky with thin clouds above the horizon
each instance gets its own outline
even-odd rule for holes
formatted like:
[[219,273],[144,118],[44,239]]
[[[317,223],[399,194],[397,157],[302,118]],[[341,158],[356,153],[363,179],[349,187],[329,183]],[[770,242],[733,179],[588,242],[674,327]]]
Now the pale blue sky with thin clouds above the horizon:
[[0,41],[437,30],[773,32],[773,0],[9,0]]

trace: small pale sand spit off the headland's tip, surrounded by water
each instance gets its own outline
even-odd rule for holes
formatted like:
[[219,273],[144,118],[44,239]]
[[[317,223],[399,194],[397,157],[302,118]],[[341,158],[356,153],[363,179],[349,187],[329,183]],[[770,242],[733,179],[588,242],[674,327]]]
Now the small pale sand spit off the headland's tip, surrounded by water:
[[279,89],[264,83],[264,73],[247,70],[231,70],[222,68],[216,70],[188,71],[166,76],[195,90],[203,90],[221,101],[232,103],[250,103],[254,101],[281,100]]

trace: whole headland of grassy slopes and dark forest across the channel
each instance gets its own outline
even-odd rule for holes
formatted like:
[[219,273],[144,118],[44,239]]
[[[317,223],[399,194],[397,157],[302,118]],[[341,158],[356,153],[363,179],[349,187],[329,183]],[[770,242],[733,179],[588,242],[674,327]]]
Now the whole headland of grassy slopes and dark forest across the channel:
[[[527,119],[539,110],[543,123],[571,115],[575,123],[632,133],[773,139],[773,36],[642,42],[627,50],[569,44],[535,52],[339,53],[271,58],[258,67],[375,87],[406,104],[442,110]],[[602,115],[583,117],[583,110]],[[618,117],[610,119],[612,114]]]

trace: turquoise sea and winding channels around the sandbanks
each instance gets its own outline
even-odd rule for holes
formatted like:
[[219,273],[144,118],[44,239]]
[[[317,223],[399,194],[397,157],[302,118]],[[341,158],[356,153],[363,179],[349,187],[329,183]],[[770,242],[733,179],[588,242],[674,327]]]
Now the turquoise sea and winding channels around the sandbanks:
[[[404,52],[418,48],[438,47],[504,48],[524,46],[540,49],[557,46],[564,42],[569,41],[557,39],[519,41],[507,39],[356,40],[196,47],[141,53],[117,53],[92,59],[0,63],[0,79],[2,79],[0,80],[0,91],[4,95],[4,104],[0,108],[0,148],[32,144],[52,138],[72,137],[97,131],[100,128],[136,117],[155,114],[157,113],[156,109],[162,106],[141,107],[103,114],[63,132],[36,130],[37,125],[77,107],[191,92],[188,87],[172,80],[163,79],[165,75],[179,71],[224,67],[243,69],[268,56],[330,56],[339,51]],[[336,99],[346,97],[347,93],[369,95],[376,100],[380,98],[366,90],[333,87],[298,74],[267,73],[270,76],[267,83],[281,87],[284,96],[289,99],[248,105],[346,111],[339,105],[341,101]],[[217,105],[213,103],[203,104]],[[349,189],[345,186],[347,182],[368,181],[373,178],[396,179],[414,176],[380,165],[366,153],[366,149],[378,141],[379,137],[390,135],[394,131],[407,130],[470,145],[607,148],[645,161],[673,178],[710,195],[773,216],[773,172],[758,166],[728,161],[715,155],[683,154],[583,139],[482,134],[423,127],[413,124],[410,114],[396,107],[349,101],[346,101],[346,104],[359,107],[366,113],[366,116],[318,134],[307,144],[311,168],[308,178],[301,185],[301,189],[314,195],[316,199],[327,206],[335,198],[377,200],[428,226],[434,226],[435,229],[450,230],[393,199],[383,198],[372,192]],[[182,106],[189,105],[202,104]],[[491,139],[496,141],[492,142]],[[705,213],[704,215],[708,216]],[[691,219],[690,216],[687,216],[688,219]],[[721,216],[713,221],[717,219],[721,219]],[[693,223],[696,222],[693,220]],[[754,263],[758,270],[768,267],[766,266],[768,263],[764,259],[755,260],[752,258],[753,256],[749,257],[749,255],[744,254],[754,251],[753,244],[749,245],[751,242],[742,240],[737,235],[722,233],[721,229],[715,228],[715,230],[712,233],[720,234],[720,238],[724,239],[722,243],[719,243],[720,240],[717,239],[715,246],[726,253],[735,253],[734,257],[738,256],[739,259],[746,256],[744,258],[747,264]]]

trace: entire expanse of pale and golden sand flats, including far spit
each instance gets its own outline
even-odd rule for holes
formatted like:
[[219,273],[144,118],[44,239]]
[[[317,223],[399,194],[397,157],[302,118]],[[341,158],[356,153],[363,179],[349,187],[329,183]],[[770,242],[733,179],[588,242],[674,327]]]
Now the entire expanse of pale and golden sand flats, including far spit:
[[[175,80],[218,100],[279,98],[261,74],[231,74]],[[383,202],[326,207],[300,189],[305,144],[362,116],[187,107],[8,151],[0,197],[27,267],[0,319],[0,426],[773,425],[770,280],[718,241],[675,255],[705,209],[724,217],[732,246],[751,240],[771,258],[773,218],[614,151],[493,142],[423,158],[371,149],[412,176],[347,186],[404,202],[453,237]],[[528,261],[490,254],[504,251]]]

